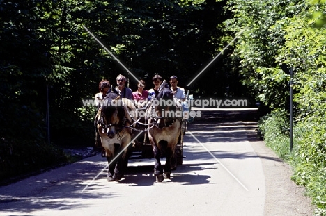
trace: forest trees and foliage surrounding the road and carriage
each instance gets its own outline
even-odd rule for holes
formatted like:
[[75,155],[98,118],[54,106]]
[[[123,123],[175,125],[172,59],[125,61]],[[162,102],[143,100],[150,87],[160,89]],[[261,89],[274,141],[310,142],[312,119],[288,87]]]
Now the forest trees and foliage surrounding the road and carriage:
[[123,74],[137,90],[86,26],[147,89],[176,75],[195,99],[260,102],[258,132],[326,215],[325,1],[0,0],[0,179],[66,162],[61,147],[92,147],[96,109],[82,100],[102,78]]

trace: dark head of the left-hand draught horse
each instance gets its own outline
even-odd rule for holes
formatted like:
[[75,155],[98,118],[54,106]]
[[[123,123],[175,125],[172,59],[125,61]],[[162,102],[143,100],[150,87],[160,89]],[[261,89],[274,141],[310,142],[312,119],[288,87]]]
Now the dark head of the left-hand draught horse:
[[102,114],[104,117],[104,129],[109,138],[114,138],[118,127],[123,122],[124,110],[120,97],[114,88],[111,88],[103,99]]

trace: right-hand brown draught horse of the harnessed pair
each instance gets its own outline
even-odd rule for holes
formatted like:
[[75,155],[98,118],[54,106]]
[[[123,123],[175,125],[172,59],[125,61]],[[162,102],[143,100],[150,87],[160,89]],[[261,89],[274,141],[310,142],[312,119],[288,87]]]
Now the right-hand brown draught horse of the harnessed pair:
[[[162,182],[164,178],[170,178],[171,167],[176,167],[176,145],[179,136],[182,136],[182,116],[181,105],[173,99],[173,93],[163,81],[157,97],[152,99],[146,109],[148,118],[148,139],[153,147],[155,159],[154,174],[157,182]],[[162,153],[166,157],[164,169],[161,165],[160,157]]]

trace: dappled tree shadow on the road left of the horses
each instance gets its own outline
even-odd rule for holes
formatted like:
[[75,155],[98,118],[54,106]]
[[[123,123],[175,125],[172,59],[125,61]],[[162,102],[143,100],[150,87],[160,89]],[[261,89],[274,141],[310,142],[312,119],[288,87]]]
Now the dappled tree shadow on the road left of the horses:
[[[91,160],[90,160],[91,159]],[[17,190],[6,190],[0,187],[0,208],[13,215],[29,214],[39,210],[71,210],[86,208],[91,202],[98,199],[109,199],[119,196],[112,192],[105,192],[113,184],[107,183],[107,172],[100,175],[85,192],[81,192],[91,179],[104,168],[106,163],[95,162],[95,158],[86,158],[82,163],[83,169],[77,169],[77,163],[45,172],[38,176],[26,178],[17,185]],[[98,159],[98,158],[96,158]],[[46,177],[42,177],[46,176]],[[26,183],[25,183],[26,181]],[[23,186],[24,185],[24,186]],[[49,195],[51,194],[51,195]],[[88,201],[87,201],[88,200]],[[17,205],[6,205],[15,202]]]

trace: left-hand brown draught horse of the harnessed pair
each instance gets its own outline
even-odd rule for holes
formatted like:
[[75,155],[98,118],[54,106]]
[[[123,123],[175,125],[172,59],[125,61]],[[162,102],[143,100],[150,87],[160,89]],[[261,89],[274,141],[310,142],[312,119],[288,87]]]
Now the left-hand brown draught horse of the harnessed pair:
[[96,115],[98,133],[109,163],[107,181],[121,180],[127,168],[132,140],[130,126],[133,123],[130,113],[136,113],[134,103],[120,98],[118,92],[111,88]]

